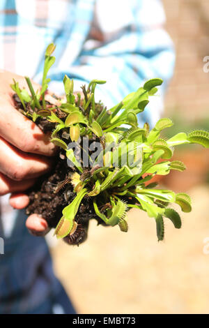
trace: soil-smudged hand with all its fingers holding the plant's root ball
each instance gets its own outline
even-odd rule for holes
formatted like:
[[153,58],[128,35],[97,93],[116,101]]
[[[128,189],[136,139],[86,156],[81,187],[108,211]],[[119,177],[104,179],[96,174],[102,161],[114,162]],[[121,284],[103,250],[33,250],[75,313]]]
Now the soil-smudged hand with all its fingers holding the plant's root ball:
[[[50,169],[55,147],[48,135],[15,109],[13,79],[28,90],[24,77],[0,71],[0,195],[12,193],[11,206],[22,209],[29,204],[24,191]],[[40,85],[33,82],[33,88],[36,91]],[[33,234],[48,230],[47,222],[37,214],[29,216],[26,226]]]

